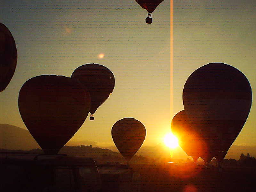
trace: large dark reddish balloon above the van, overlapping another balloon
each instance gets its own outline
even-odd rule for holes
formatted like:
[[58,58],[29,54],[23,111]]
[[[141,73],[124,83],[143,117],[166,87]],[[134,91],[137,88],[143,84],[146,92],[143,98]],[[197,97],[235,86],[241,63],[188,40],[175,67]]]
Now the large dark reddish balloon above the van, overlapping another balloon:
[[45,153],[57,154],[84,123],[90,96],[70,77],[36,76],[19,93],[22,120]]

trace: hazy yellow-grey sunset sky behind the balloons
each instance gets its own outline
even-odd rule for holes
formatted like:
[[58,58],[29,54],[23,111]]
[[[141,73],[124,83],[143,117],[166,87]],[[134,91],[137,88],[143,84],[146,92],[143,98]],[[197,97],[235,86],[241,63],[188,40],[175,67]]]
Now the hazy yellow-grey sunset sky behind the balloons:
[[[124,117],[146,127],[142,146],[163,143],[172,117],[184,109],[182,90],[188,76],[208,63],[239,69],[252,93],[256,90],[253,0],[164,0],[153,12],[152,24],[145,23],[147,11],[135,0],[0,4],[0,22],[11,31],[18,51],[16,71],[0,93],[0,124],[26,129],[18,95],[28,79],[43,74],[70,77],[87,63],[109,68],[116,84],[94,113],[95,120],[88,116],[71,140],[91,140],[99,146],[114,145],[111,128]],[[254,100],[253,93],[250,114],[234,145],[256,146]]]

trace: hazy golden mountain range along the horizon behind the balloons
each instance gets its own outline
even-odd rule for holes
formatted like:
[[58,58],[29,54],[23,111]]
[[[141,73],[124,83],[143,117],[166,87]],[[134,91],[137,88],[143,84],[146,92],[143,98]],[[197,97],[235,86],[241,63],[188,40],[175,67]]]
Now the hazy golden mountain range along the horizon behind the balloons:
[[[109,147],[100,147],[97,146],[96,141],[69,141],[67,146],[90,146],[99,147],[99,148],[107,148],[114,152],[118,152],[116,146]],[[17,126],[9,125],[9,124],[0,124],[0,148],[2,149],[20,149],[20,150],[31,150],[40,148],[36,143],[35,139],[31,136],[28,130],[22,129]],[[228,154],[225,158],[227,159],[239,159],[240,154],[250,153],[250,156],[256,157],[256,146],[237,146],[232,145],[228,150]],[[156,146],[145,146],[141,147],[139,151],[136,153],[137,156],[144,156],[148,158],[161,159],[161,158],[170,158],[170,149],[166,148],[163,145]],[[181,149],[177,148],[173,151],[173,158],[175,159],[187,159],[188,156]]]

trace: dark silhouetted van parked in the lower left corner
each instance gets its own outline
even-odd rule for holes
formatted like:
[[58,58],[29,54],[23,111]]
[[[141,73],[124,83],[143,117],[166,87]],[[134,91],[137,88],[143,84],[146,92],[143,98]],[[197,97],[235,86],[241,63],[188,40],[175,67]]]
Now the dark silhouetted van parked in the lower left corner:
[[98,192],[101,188],[92,158],[2,153],[0,170],[3,192]]

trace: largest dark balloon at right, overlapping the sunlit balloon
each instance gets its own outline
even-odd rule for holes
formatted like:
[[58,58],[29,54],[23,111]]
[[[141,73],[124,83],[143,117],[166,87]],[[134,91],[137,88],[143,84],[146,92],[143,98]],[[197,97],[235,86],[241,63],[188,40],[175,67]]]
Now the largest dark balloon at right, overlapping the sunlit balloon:
[[[183,88],[183,105],[192,129],[220,162],[244,126],[252,104],[249,81],[238,69],[209,63],[194,71]],[[194,127],[193,127],[194,126]]]

